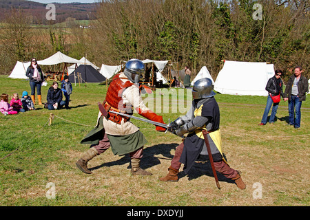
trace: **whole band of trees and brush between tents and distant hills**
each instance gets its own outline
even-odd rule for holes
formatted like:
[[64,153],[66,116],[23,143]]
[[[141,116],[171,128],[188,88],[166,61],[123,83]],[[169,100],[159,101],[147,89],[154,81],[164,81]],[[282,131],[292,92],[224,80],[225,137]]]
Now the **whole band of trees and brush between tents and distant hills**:
[[[96,4],[90,28],[37,28],[12,9],[0,31],[0,73],[16,61],[57,51],[101,65],[130,58],[170,60],[194,74],[204,65],[216,78],[223,61],[273,63],[287,79],[300,65],[309,78],[309,7],[306,0],[110,0]],[[72,25],[72,23],[74,25]],[[69,26],[68,26],[69,27]]]

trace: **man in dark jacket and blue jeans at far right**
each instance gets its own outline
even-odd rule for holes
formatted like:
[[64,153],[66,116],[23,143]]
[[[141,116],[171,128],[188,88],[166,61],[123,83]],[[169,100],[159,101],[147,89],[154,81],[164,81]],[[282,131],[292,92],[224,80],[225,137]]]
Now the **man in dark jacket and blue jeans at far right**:
[[298,66],[294,69],[285,88],[284,100],[289,100],[289,125],[293,125],[296,129],[300,127],[301,104],[306,100],[306,92],[308,91],[308,80],[302,76],[302,67]]

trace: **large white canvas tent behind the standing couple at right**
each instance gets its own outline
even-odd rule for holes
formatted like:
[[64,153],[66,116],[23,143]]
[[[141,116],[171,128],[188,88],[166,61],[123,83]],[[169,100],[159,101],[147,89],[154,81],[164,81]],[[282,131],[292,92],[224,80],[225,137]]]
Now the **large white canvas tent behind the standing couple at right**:
[[272,76],[272,64],[225,61],[214,83],[214,90],[220,94],[268,96],[265,87]]

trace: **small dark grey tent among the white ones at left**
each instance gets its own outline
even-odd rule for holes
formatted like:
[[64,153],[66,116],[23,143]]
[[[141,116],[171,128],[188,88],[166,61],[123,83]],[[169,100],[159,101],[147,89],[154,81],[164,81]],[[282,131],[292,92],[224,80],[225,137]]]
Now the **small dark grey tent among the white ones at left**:
[[69,75],[69,80],[71,83],[101,83],[105,77],[91,65],[79,65]]

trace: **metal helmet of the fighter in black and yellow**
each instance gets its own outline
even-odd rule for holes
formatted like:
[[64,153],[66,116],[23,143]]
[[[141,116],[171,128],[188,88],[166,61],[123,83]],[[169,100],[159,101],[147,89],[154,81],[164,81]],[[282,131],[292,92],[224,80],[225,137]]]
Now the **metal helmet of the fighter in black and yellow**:
[[209,98],[215,96],[216,93],[213,91],[214,86],[212,80],[209,78],[200,78],[194,83],[192,94],[193,99]]

